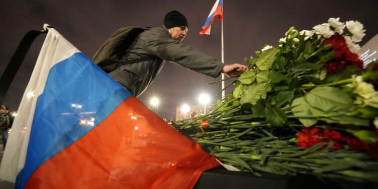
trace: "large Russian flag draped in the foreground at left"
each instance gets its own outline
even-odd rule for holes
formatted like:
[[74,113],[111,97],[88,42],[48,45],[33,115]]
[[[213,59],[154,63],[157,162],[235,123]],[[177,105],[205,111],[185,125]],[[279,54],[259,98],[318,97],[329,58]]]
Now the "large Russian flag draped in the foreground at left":
[[192,188],[216,158],[48,30],[7,143],[16,188]]

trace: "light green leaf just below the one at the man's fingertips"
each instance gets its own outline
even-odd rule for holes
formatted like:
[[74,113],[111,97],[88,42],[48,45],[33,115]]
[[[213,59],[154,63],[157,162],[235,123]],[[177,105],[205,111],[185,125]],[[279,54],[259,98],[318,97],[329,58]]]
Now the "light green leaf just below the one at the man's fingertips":
[[[265,52],[265,51],[264,51]],[[265,85],[262,83],[253,84],[248,86],[244,95],[240,99],[240,103],[251,103],[256,104],[260,99],[265,99],[267,97],[267,91]]]

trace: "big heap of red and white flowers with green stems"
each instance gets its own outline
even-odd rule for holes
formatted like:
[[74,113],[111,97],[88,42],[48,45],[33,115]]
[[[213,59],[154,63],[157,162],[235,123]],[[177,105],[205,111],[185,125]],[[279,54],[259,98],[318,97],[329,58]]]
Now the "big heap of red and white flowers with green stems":
[[250,71],[205,115],[173,126],[224,164],[255,175],[378,182],[378,62],[355,53],[358,21],[289,28],[245,58]]

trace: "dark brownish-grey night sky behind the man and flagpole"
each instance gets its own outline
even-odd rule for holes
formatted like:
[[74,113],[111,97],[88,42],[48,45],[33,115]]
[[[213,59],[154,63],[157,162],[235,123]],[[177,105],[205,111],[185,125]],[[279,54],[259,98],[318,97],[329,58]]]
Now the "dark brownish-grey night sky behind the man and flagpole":
[[[215,0],[195,1],[0,1],[0,74],[3,74],[17,45],[30,30],[41,30],[47,23],[60,32],[85,55],[91,58],[97,48],[116,29],[123,26],[157,27],[171,10],[184,14],[189,32],[184,43],[221,59],[221,22],[214,21],[211,35],[199,35]],[[244,57],[255,56],[264,44],[277,45],[289,27],[311,30],[329,18],[340,21],[357,20],[366,35],[362,46],[378,33],[377,1],[224,1],[225,64],[244,63]],[[3,104],[16,111],[31,76],[45,35],[41,34],[29,50]],[[210,95],[215,103],[221,94],[220,80],[187,70],[167,62],[157,79],[139,99],[160,99],[158,114],[175,118],[175,108],[183,103],[199,104],[200,93]],[[232,81],[232,80],[231,80]],[[227,81],[228,85],[231,81]],[[226,93],[232,92],[232,88]],[[155,110],[155,109],[153,109]]]

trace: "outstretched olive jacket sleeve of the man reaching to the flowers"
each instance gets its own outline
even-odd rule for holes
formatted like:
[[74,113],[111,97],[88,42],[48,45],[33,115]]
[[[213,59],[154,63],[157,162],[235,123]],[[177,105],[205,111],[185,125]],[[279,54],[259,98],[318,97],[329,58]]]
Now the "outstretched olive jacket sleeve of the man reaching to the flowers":
[[[163,29],[163,28],[160,28]],[[217,78],[224,64],[189,45],[173,40],[168,31],[149,31],[145,49],[162,59],[173,61],[187,69]]]

